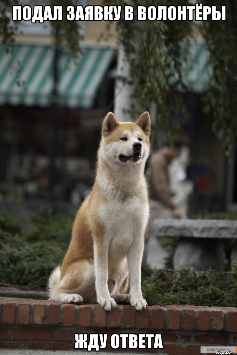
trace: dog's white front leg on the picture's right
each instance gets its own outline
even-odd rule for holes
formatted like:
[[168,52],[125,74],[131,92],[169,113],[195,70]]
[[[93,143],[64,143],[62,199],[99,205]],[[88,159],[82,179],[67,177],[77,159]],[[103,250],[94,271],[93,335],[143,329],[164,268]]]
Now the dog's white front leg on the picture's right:
[[129,247],[128,269],[130,280],[130,304],[141,311],[142,308],[146,308],[147,302],[142,297],[141,292],[141,260],[144,248],[144,236],[134,237]]

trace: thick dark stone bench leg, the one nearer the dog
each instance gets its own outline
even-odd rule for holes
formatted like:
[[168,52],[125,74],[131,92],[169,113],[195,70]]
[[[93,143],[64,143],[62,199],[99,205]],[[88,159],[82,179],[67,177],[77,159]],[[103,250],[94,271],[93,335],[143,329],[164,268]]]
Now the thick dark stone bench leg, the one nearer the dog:
[[176,270],[183,267],[195,267],[198,270],[211,267],[222,271],[226,263],[226,255],[218,239],[180,238],[173,257],[173,268]]

